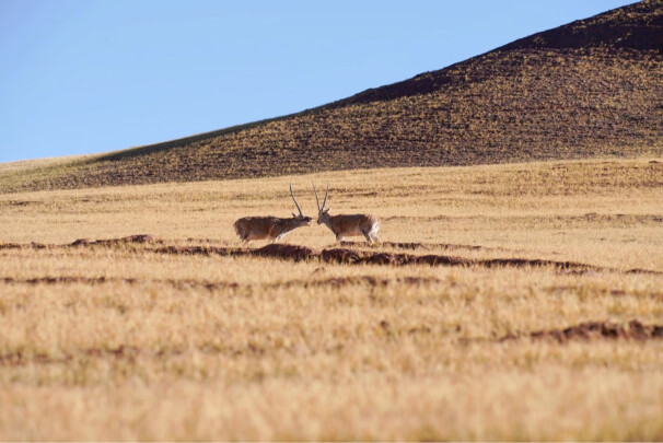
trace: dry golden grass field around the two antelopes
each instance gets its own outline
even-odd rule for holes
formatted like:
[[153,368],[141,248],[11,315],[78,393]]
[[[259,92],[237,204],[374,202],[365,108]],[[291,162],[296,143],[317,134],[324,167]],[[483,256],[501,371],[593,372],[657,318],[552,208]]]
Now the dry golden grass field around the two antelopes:
[[[311,180],[383,243],[239,243]],[[3,441],[663,440],[662,159],[0,194],[0,228]]]

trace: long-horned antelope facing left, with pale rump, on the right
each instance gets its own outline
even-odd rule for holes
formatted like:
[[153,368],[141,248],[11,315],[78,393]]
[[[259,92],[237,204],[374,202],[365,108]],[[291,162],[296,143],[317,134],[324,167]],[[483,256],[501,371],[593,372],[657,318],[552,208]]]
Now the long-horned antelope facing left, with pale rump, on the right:
[[327,184],[327,193],[325,194],[322,207],[319,206],[315,185],[313,185],[313,191],[315,193],[315,202],[317,203],[317,224],[325,223],[334,235],[336,235],[337,241],[342,242],[345,237],[363,235],[370,244],[377,242],[380,220],[364,213],[329,215],[329,208],[325,209],[327,197],[329,196],[329,184]]

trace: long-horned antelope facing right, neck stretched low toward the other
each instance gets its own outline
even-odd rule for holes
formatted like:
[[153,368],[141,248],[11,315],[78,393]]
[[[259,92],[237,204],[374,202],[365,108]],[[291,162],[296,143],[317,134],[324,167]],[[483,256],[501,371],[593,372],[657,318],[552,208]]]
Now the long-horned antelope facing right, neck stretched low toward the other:
[[234,224],[235,232],[242,243],[248,244],[252,240],[268,238],[275,243],[283,238],[288,233],[301,226],[311,225],[311,217],[304,215],[294,194],[292,193],[292,183],[290,184],[290,196],[294,200],[294,206],[300,211],[299,215],[292,212],[292,219],[281,219],[279,217],[244,217]]

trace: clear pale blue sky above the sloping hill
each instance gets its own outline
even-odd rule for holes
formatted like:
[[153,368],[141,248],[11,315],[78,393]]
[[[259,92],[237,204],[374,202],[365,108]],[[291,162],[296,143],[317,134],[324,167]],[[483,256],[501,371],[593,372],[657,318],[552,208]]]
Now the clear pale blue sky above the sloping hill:
[[0,162],[290,114],[624,0],[0,0]]

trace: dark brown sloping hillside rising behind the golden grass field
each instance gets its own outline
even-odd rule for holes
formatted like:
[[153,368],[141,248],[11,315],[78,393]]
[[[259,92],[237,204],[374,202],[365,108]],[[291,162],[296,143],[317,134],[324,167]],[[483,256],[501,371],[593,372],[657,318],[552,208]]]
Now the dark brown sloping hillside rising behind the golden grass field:
[[296,115],[0,171],[0,191],[663,154],[663,0]]

